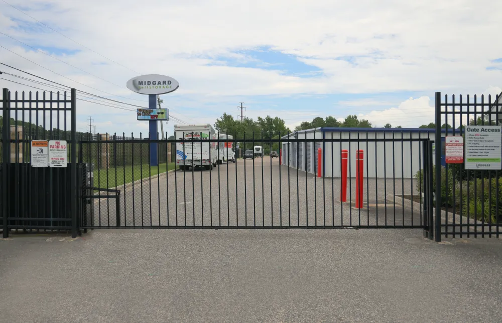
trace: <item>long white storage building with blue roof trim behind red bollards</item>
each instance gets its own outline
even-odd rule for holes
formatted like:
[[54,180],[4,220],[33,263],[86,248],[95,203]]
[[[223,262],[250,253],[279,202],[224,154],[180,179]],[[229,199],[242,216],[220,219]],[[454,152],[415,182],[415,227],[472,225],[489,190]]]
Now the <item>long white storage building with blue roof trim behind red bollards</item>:
[[[448,132],[451,133],[451,130]],[[442,164],[445,134],[443,129]],[[366,141],[366,138],[372,141]],[[384,141],[393,138],[397,141]],[[401,138],[404,141],[401,141]],[[346,149],[349,157],[348,176],[355,177],[356,151],[359,149],[364,151],[364,177],[411,178],[423,168],[423,147],[420,141],[406,141],[409,138],[430,138],[434,141],[435,129],[324,127],[301,130],[281,138],[284,140],[281,143],[281,162],[317,174],[317,155],[318,149],[321,148],[321,176],[340,177],[341,151]],[[337,141],[339,139],[350,141]]]

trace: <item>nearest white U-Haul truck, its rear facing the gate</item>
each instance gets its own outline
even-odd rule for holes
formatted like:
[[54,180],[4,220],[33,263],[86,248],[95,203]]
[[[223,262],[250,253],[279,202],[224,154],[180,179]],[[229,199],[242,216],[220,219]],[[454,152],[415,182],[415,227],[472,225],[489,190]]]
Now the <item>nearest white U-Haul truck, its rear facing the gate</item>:
[[218,162],[218,143],[204,142],[215,140],[216,132],[210,124],[203,125],[174,125],[176,143],[176,165],[181,170],[190,167],[204,167],[213,169]]

